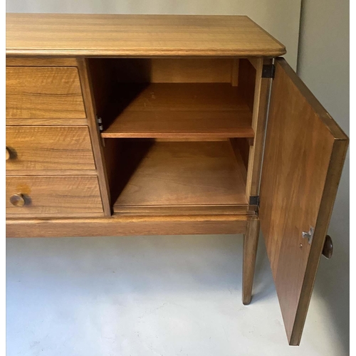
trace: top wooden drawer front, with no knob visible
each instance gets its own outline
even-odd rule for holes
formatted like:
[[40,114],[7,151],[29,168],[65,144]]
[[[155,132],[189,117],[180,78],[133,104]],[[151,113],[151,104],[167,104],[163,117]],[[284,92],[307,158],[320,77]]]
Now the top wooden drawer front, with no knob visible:
[[85,118],[77,68],[6,67],[6,117]]

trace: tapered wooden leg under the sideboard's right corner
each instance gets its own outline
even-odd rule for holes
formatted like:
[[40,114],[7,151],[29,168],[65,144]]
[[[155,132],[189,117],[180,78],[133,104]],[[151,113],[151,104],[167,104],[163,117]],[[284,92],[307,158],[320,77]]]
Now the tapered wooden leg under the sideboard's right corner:
[[244,305],[249,304],[252,298],[259,232],[260,221],[257,216],[253,216],[247,221],[246,234],[244,235],[244,261],[242,268],[242,303]]

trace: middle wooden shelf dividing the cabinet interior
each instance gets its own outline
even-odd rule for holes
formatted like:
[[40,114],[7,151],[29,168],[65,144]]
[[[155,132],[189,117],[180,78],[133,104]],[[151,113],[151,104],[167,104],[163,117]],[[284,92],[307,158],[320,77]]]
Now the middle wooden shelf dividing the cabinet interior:
[[103,137],[253,137],[252,114],[229,83],[122,84]]

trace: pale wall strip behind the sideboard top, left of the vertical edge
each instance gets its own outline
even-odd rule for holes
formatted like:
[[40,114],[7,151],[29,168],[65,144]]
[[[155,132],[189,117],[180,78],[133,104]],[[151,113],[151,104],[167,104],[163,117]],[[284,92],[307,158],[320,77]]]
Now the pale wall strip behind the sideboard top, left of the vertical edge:
[[297,63],[300,0],[6,0],[7,12],[247,15],[287,48]]

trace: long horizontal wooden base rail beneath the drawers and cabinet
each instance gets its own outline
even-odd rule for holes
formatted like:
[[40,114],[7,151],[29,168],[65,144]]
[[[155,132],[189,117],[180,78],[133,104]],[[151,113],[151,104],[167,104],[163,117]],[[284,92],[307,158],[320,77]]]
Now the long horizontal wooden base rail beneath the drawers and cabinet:
[[[21,208],[19,208],[21,209]],[[244,234],[246,216],[7,219],[6,237]]]

